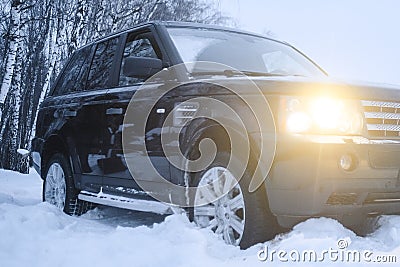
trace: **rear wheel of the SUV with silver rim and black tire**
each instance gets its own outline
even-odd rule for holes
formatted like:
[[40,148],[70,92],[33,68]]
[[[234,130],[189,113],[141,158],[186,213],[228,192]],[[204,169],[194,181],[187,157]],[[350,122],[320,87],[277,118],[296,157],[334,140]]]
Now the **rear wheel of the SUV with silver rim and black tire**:
[[79,216],[92,208],[92,203],[79,200],[71,165],[63,154],[54,154],[46,166],[43,201],[55,205],[68,215]]

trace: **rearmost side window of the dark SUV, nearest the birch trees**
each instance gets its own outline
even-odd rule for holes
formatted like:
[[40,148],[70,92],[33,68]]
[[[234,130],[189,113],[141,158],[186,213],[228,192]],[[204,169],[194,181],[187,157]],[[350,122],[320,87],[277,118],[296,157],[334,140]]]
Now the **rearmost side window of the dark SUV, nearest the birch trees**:
[[85,47],[72,55],[57,82],[53,95],[63,95],[83,89],[84,85],[80,80],[86,77],[83,70],[89,65],[90,54],[91,47]]

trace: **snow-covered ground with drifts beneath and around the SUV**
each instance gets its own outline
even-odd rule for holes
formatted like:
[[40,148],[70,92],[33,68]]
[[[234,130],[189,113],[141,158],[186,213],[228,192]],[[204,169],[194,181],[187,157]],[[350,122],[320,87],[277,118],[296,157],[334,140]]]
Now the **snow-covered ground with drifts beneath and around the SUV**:
[[[358,266],[398,266],[400,262],[400,216],[382,217],[381,226],[366,237],[357,236],[331,219],[310,219],[272,241],[240,250],[225,245],[209,230],[197,229],[181,215],[164,218],[99,207],[81,217],[70,217],[42,203],[41,190],[41,180],[33,170],[29,175],[0,170],[1,267],[287,266],[288,263],[343,266],[347,262],[347,256],[343,255],[349,255],[347,252],[365,254],[356,263]],[[339,249],[338,240],[339,246],[346,248]],[[259,252],[260,249],[267,252],[266,247],[269,257],[260,261],[257,255],[265,258],[266,254]],[[298,255],[300,258],[309,255],[306,253],[311,250],[318,256],[317,262],[313,258],[307,260],[308,256],[305,262],[291,260]],[[280,261],[278,255],[287,262]],[[324,262],[318,262],[322,255]],[[397,263],[373,262],[388,260],[388,256]],[[356,257],[350,259],[357,261]],[[366,264],[363,259],[371,263]]]

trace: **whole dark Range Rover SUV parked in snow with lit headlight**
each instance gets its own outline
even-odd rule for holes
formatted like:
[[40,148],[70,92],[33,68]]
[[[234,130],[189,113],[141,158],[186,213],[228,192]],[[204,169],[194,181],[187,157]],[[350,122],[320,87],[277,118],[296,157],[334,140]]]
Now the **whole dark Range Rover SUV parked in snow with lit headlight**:
[[[209,164],[184,168],[208,151]],[[185,212],[248,247],[310,217],[400,212],[400,91],[334,81],[265,36],[151,22],[73,53],[31,156],[43,200],[67,214],[93,203]]]

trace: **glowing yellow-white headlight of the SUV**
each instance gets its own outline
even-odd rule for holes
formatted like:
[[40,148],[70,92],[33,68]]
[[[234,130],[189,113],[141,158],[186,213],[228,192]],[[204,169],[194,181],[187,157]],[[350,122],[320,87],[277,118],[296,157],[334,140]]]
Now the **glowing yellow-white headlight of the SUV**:
[[330,97],[282,97],[280,124],[290,133],[360,135],[359,101]]

